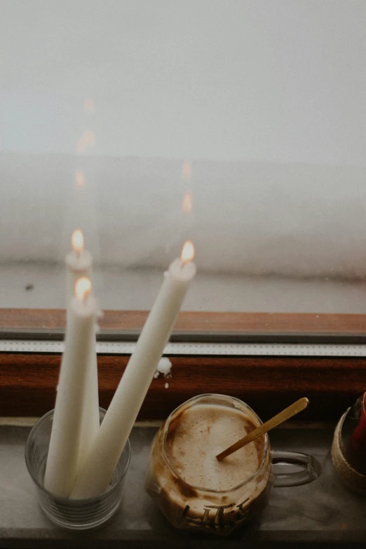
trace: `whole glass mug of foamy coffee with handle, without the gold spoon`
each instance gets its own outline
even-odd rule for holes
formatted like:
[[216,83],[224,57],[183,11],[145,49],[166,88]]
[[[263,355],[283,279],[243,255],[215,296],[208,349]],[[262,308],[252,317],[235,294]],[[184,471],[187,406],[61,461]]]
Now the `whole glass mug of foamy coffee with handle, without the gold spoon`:
[[[273,452],[266,433],[223,461],[216,455],[262,424],[244,402],[198,395],[177,407],[151,444],[145,487],[176,528],[230,534],[259,515],[274,486],[297,486],[320,474],[308,454]],[[272,463],[297,465],[273,474]]]

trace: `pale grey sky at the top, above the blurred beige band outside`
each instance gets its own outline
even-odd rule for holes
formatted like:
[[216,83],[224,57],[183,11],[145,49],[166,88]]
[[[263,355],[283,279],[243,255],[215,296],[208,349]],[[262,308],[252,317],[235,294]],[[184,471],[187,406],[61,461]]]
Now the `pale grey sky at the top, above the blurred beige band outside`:
[[365,162],[364,0],[0,7],[0,149]]

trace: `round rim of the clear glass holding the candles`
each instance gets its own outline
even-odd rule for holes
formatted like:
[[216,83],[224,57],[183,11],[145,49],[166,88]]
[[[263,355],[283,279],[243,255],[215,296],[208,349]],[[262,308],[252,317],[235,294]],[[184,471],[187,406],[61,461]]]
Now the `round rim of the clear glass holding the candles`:
[[[104,414],[107,413],[107,410],[102,408],[102,407],[99,407],[99,411],[103,412]],[[62,502],[62,501],[67,502],[68,504],[71,504],[71,505],[74,505],[74,504],[77,505],[81,501],[83,501],[83,503],[87,503],[87,502],[95,501],[95,499],[97,499],[97,498],[107,496],[108,494],[110,494],[110,492],[112,490],[114,490],[116,488],[116,486],[118,486],[118,484],[123,480],[123,477],[126,475],[126,473],[128,471],[128,466],[130,465],[130,459],[131,459],[131,445],[130,445],[130,439],[129,438],[127,439],[126,445],[125,445],[125,447],[123,447],[123,450],[122,450],[122,453],[125,451],[125,449],[127,449],[127,452],[128,452],[127,462],[126,462],[126,466],[123,468],[123,472],[121,473],[118,480],[112,486],[107,488],[107,490],[105,492],[103,492],[102,494],[99,494],[98,496],[92,496],[90,498],[85,498],[85,499],[70,499],[70,498],[65,498],[64,496],[57,496],[57,494],[53,494],[53,492],[50,492],[48,489],[46,489],[43,486],[43,484],[41,484],[41,482],[39,482],[39,480],[36,479],[36,477],[34,476],[33,470],[32,470],[32,464],[29,462],[29,456],[28,456],[29,441],[31,440],[32,435],[34,434],[35,431],[37,431],[37,428],[39,428],[41,423],[46,421],[46,419],[48,419],[48,417],[50,415],[54,414],[54,412],[55,412],[54,408],[49,410],[48,412],[46,412],[46,414],[43,414],[43,416],[41,416],[36,421],[36,423],[34,423],[34,426],[32,427],[31,431],[29,432],[27,442],[25,442],[25,464],[27,466],[28,473],[29,473],[30,477],[32,478],[34,484],[36,484],[36,486],[39,489],[41,489],[42,492],[44,492],[45,494],[48,494],[48,496],[50,496],[52,498],[57,498],[60,502]],[[121,459],[121,456],[120,456],[120,459]]]

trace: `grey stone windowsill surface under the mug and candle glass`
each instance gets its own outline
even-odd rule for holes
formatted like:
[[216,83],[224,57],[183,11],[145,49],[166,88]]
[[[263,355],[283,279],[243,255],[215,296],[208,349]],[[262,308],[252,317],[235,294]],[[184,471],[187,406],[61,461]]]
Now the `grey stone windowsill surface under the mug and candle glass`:
[[0,427],[0,548],[131,547],[175,549],[364,546],[366,498],[344,487],[330,460],[332,429],[277,429],[273,449],[310,452],[323,472],[311,484],[275,487],[261,519],[227,538],[173,529],[144,492],[144,470],[156,428],[135,427],[132,458],[118,513],[99,529],[55,527],[41,511],[24,459],[29,428]]

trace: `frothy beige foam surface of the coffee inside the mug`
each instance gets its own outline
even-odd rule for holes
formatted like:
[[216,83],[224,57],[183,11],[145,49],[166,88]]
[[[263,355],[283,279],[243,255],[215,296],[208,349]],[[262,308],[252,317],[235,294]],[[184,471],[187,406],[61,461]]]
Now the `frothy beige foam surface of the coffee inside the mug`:
[[259,469],[263,437],[222,461],[217,461],[216,456],[255,427],[234,408],[195,405],[172,421],[165,452],[179,476],[191,486],[229,490]]

